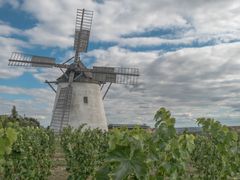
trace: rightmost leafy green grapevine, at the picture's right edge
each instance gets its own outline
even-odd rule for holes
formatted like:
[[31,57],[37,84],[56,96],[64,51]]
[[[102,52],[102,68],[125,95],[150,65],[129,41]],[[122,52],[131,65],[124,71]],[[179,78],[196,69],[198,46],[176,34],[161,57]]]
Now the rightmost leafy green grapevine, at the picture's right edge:
[[[192,154],[198,178],[229,179],[240,173],[238,134],[213,119],[199,118],[203,133],[195,139]],[[239,174],[238,174],[239,175]]]

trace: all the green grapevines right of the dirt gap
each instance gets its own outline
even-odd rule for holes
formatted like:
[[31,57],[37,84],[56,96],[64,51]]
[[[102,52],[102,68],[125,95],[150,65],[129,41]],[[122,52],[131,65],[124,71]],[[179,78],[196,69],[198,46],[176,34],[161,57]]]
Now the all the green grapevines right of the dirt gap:
[[177,134],[175,119],[161,108],[155,130],[65,129],[61,143],[69,179],[161,180],[240,177],[239,135],[213,119],[200,118],[202,133]]

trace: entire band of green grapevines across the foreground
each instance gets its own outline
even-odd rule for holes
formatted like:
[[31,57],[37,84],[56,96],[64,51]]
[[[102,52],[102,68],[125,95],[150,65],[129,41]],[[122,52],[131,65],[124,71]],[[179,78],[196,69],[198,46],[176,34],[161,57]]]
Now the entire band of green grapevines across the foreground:
[[154,130],[103,132],[65,128],[60,135],[0,119],[0,179],[48,179],[56,149],[66,179],[239,179],[240,134],[214,119],[199,118],[199,134],[178,134],[171,113],[161,108]]

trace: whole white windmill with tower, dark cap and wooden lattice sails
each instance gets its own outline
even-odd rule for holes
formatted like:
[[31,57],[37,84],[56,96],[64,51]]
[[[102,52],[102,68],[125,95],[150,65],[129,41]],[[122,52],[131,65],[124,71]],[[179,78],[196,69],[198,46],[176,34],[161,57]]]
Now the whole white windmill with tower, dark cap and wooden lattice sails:
[[[107,130],[103,106],[112,83],[136,84],[137,68],[98,67],[87,68],[80,60],[80,53],[87,52],[93,11],[78,9],[75,25],[75,55],[63,63],[52,57],[13,52],[9,66],[58,68],[62,75],[56,81],[45,81],[56,93],[50,128],[55,132],[70,125],[78,127],[86,123],[91,128]],[[57,85],[57,89],[53,84]],[[103,86],[107,85],[105,92]],[[103,94],[103,96],[102,96]]]

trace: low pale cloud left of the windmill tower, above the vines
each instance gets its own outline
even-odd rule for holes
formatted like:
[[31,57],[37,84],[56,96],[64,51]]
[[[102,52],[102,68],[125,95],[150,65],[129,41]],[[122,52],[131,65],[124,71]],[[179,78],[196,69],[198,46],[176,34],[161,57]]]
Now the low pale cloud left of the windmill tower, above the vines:
[[[17,107],[20,115],[37,118],[44,126],[48,126],[51,120],[55,94],[50,88],[20,88],[0,86],[1,94],[18,95],[13,100],[0,98],[0,114],[9,114],[13,105]],[[29,98],[20,98],[28,96]]]

